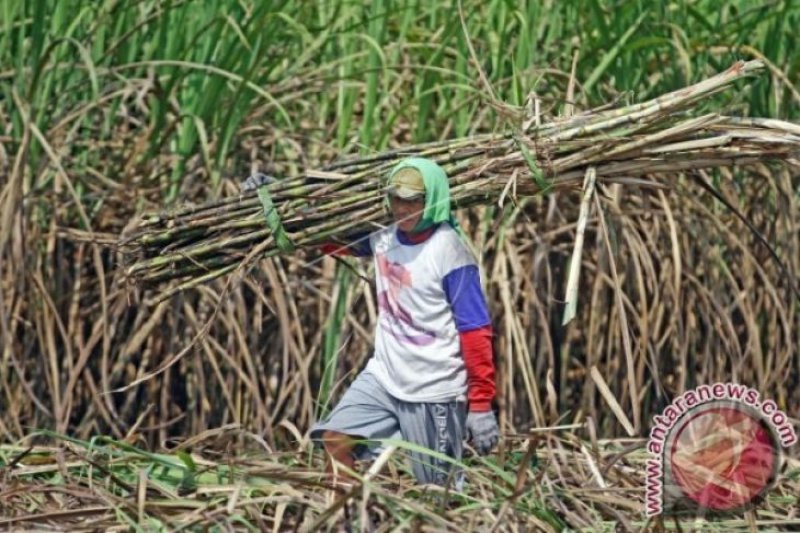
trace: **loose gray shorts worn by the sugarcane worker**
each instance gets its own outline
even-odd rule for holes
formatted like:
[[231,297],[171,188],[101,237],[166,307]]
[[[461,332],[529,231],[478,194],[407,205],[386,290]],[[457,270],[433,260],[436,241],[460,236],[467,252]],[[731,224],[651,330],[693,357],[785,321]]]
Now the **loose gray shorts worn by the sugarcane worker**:
[[[311,428],[311,439],[321,444],[324,431],[336,431],[363,439],[354,449],[356,459],[380,452],[377,439],[397,439],[460,460],[464,449],[466,402],[405,402],[390,395],[369,372],[361,372],[339,404]],[[428,454],[412,451],[411,468],[419,483],[445,485],[451,464]],[[461,485],[462,472],[452,479]]]

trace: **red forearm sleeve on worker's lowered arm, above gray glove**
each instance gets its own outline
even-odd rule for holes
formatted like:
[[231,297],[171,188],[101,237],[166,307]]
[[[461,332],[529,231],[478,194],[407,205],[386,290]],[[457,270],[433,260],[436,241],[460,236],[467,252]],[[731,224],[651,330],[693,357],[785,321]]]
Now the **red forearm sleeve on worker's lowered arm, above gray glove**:
[[470,411],[490,411],[495,394],[492,360],[492,326],[462,331],[461,353],[467,367],[467,399]]

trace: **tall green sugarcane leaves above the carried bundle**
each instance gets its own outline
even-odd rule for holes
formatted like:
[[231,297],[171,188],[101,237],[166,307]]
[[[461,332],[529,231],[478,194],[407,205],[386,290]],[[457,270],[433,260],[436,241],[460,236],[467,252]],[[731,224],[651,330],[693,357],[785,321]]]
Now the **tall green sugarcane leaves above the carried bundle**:
[[[159,185],[172,199],[198,166],[212,187],[239,175],[247,139],[292,166],[315,163],[315,145],[372,151],[500,127],[467,35],[512,106],[535,91],[558,112],[573,59],[585,108],[764,57],[782,74],[742,94],[741,112],[798,115],[800,7],[789,0],[467,1],[463,14],[465,26],[455,2],[5,0],[6,152],[30,116],[48,142],[68,141],[78,182],[94,169],[128,185],[168,157]],[[135,146],[114,144],[122,117]],[[23,162],[26,189],[46,187],[40,140]]]

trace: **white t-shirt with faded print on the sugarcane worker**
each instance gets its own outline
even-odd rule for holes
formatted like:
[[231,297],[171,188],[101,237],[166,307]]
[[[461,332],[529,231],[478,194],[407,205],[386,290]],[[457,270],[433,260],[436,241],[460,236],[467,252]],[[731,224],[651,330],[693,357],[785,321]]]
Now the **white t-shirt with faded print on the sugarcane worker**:
[[[459,330],[465,328],[457,327],[450,303],[459,287],[447,285],[445,279],[454,271],[477,272],[474,256],[449,224],[441,224],[419,244],[401,242],[394,224],[372,234],[369,242],[379,313],[375,354],[365,370],[400,400],[465,398],[467,372],[459,339]],[[469,266],[474,268],[463,268]],[[474,286],[464,292],[474,293]],[[477,320],[488,321],[482,293],[472,297],[480,303],[470,307],[482,307],[479,316],[486,317]]]

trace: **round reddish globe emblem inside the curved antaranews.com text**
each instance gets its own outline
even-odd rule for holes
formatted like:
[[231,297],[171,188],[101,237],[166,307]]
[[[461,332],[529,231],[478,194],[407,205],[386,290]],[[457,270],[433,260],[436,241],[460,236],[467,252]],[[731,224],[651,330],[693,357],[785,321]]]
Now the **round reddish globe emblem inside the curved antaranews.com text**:
[[755,503],[777,477],[777,437],[746,405],[704,404],[679,420],[669,440],[670,482],[702,508],[733,511]]

